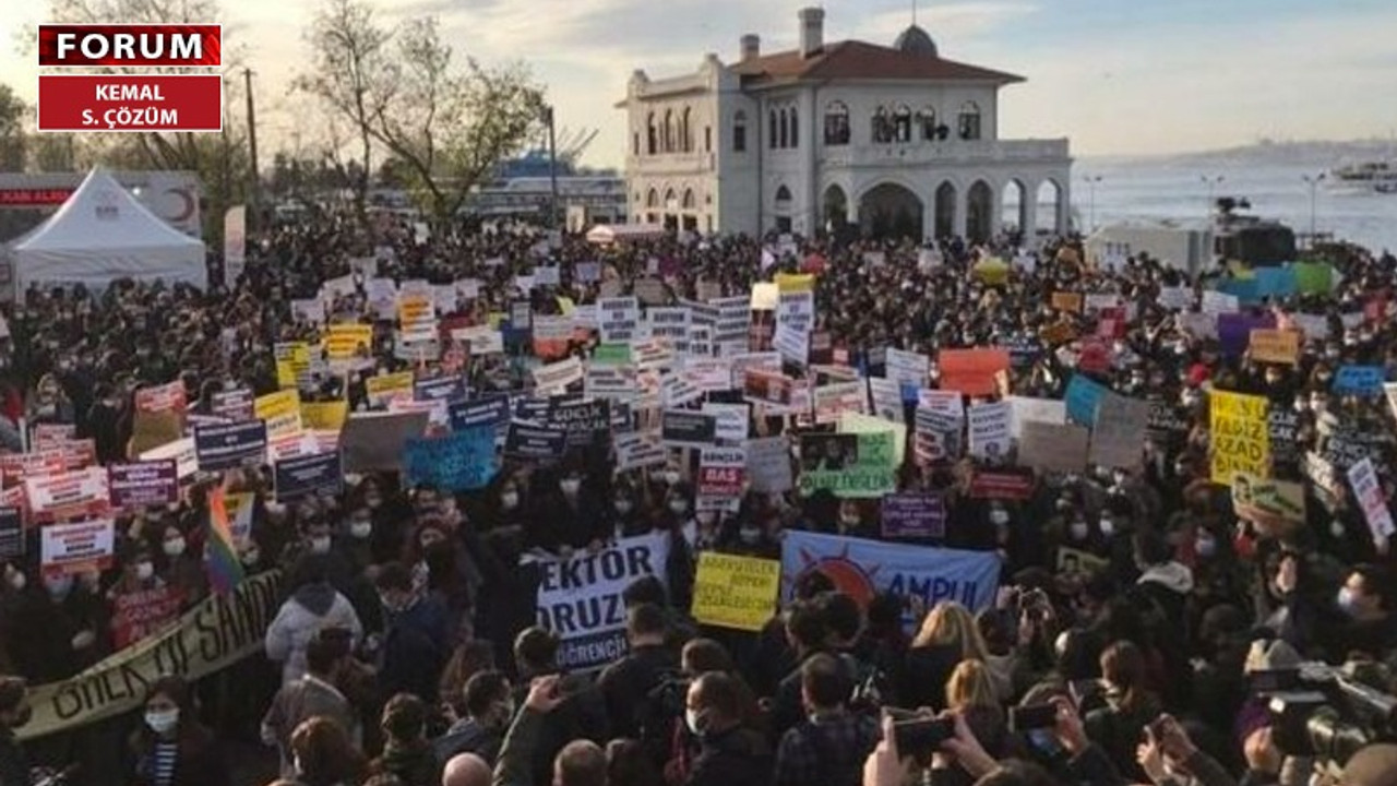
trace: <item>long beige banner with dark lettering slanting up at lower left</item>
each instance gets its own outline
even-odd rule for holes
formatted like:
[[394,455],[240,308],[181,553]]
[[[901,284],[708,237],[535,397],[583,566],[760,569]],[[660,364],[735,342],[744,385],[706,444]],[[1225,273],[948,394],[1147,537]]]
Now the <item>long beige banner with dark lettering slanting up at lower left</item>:
[[281,573],[246,579],[228,596],[210,596],[158,636],[119,650],[59,683],[29,687],[34,716],[15,729],[21,740],[78,729],[145,703],[158,678],[194,683],[263,652],[267,627],[281,607]]

